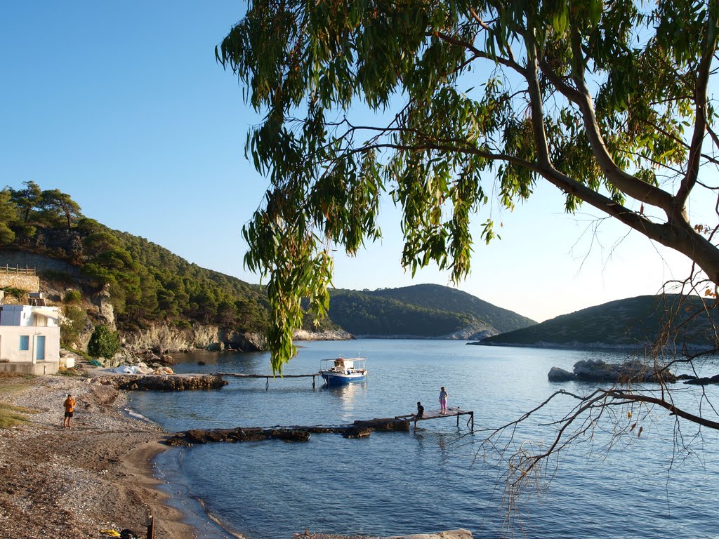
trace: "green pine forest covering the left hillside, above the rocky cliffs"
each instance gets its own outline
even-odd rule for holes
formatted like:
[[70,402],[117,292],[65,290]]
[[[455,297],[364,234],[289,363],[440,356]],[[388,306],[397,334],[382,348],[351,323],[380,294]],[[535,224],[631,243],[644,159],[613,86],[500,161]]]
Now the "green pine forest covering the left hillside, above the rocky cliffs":
[[[267,305],[258,285],[205,270],[145,238],[86,218],[70,195],[41,190],[0,191],[0,246],[63,259],[81,270],[86,292],[109,288],[116,323],[127,331],[147,323],[182,327],[216,324],[262,331]],[[46,278],[68,281],[50,272]]]

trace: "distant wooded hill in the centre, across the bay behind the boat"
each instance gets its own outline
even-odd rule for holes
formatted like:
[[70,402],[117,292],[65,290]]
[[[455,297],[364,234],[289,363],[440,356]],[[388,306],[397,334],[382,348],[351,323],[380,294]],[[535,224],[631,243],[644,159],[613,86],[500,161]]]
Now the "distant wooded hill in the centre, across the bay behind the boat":
[[332,292],[329,316],[358,336],[480,338],[536,322],[441,285]]

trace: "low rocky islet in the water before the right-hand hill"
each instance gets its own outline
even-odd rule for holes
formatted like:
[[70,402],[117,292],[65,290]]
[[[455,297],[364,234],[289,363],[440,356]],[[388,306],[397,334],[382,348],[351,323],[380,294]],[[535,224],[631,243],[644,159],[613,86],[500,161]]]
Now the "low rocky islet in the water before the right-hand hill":
[[677,377],[669,369],[656,369],[654,364],[646,364],[638,359],[623,363],[607,363],[601,359],[577,361],[574,372],[559,367],[549,371],[550,382],[610,382],[626,384],[629,382],[674,383]]

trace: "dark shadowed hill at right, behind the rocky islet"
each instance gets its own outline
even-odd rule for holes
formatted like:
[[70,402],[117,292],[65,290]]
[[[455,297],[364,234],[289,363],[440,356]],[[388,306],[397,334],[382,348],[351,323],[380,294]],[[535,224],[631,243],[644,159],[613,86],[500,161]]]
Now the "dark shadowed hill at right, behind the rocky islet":
[[[664,328],[672,328],[677,346],[713,346],[716,336],[697,296],[643,295],[610,301],[557,316],[528,328],[483,338],[472,344],[558,346],[567,348],[641,348],[656,342]],[[719,323],[717,317],[713,323]]]

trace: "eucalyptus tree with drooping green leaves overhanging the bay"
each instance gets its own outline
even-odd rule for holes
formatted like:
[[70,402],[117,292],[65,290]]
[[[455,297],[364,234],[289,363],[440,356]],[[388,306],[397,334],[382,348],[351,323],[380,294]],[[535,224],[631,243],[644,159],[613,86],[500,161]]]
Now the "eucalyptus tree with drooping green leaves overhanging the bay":
[[718,0],[250,2],[215,53],[264,113],[247,152],[271,185],[243,234],[273,367],[302,298],[326,313],[330,247],[380,237],[385,192],[413,272],[467,275],[490,196],[512,208],[546,181],[719,282],[715,223],[687,211],[717,194],[718,19]]

